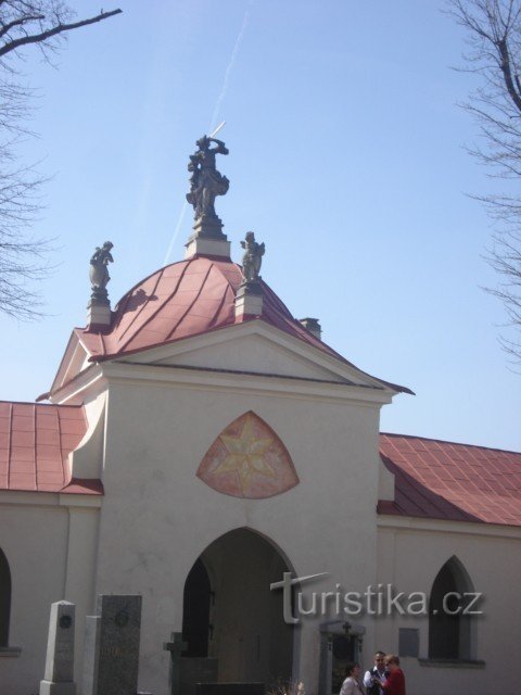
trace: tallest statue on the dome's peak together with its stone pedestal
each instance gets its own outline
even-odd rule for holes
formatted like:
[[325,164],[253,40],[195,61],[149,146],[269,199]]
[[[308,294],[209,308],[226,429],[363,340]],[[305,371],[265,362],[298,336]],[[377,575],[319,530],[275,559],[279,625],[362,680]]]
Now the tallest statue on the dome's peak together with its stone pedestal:
[[[215,147],[211,147],[212,142]],[[193,206],[193,233],[187,243],[186,256],[195,254],[229,257],[230,243],[223,233],[223,222],[215,212],[215,199],[225,195],[230,181],[216,168],[217,154],[228,154],[221,140],[203,136],[196,143],[198,150],[190,155],[190,192],[187,201]]]

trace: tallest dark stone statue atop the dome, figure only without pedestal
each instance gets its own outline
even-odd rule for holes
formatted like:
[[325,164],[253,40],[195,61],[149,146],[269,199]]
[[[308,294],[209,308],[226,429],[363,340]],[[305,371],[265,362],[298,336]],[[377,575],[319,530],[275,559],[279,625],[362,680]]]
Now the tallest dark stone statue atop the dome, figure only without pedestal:
[[[211,143],[215,142],[216,147],[211,148]],[[194,219],[201,217],[215,217],[215,199],[217,195],[224,195],[230,186],[230,181],[217,172],[215,167],[216,154],[228,154],[228,150],[221,140],[203,136],[195,143],[199,150],[190,155],[188,170],[190,176],[190,192],[187,193],[187,200],[193,205]]]

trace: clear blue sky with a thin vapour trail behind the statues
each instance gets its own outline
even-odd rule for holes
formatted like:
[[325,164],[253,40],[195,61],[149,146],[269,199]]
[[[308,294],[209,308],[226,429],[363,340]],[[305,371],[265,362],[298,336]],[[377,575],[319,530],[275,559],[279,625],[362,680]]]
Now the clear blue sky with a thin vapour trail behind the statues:
[[[72,3],[80,16],[99,11]],[[26,52],[38,89],[27,161],[52,179],[34,228],[56,238],[48,316],[0,317],[4,400],[48,390],[85,325],[88,262],[114,242],[113,304],[182,258],[187,162],[212,121],[230,150],[217,212],[240,261],[253,229],[263,277],[361,369],[403,383],[382,430],[521,450],[521,376],[481,288],[493,228],[468,197],[498,190],[465,144],[475,84],[442,3],[410,0],[123,0],[123,15],[69,35],[53,70]],[[168,250],[170,253],[168,255]],[[168,258],[167,258],[168,256]]]

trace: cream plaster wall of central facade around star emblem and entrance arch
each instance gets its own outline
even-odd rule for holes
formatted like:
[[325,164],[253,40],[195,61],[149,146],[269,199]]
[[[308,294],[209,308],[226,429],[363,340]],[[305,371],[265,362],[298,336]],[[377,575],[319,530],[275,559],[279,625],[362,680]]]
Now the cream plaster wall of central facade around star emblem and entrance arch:
[[[377,576],[379,405],[211,381],[203,388],[110,380],[96,591],[143,594],[140,687],[156,695],[167,693],[162,643],[181,629],[187,574],[227,531],[260,533],[301,576],[328,572],[318,592],[334,591],[335,582],[365,586]],[[247,410],[277,432],[293,459],[300,484],[284,494],[232,497],[195,476],[213,441]],[[326,619],[307,618],[300,631],[294,677],[310,692]]]

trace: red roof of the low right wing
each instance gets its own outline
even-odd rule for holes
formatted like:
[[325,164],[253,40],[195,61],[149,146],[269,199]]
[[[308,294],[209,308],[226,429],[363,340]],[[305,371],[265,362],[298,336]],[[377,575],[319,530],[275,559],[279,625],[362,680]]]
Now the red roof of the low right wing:
[[381,434],[395,502],[379,514],[521,526],[521,453]]

